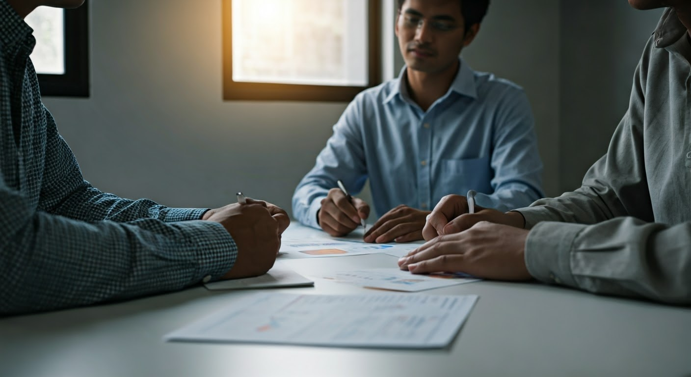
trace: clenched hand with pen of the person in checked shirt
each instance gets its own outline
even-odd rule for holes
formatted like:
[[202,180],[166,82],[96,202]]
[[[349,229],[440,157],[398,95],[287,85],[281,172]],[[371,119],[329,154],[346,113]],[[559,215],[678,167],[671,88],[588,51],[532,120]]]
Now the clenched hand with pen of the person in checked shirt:
[[281,235],[290,225],[290,218],[284,210],[254,199],[247,199],[246,204],[230,204],[210,210],[202,219],[223,225],[238,246],[235,264],[222,279],[265,274],[274,266],[281,248]]

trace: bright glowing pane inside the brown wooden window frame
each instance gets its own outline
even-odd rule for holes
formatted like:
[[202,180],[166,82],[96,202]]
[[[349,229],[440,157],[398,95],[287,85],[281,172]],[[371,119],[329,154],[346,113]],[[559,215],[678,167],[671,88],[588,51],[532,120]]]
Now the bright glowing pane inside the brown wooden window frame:
[[233,0],[233,81],[367,86],[367,0]]

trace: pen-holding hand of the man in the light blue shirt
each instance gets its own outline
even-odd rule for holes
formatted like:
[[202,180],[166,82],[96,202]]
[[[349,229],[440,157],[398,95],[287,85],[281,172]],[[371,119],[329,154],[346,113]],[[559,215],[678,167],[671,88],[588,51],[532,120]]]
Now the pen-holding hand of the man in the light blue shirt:
[[340,189],[332,188],[321,201],[317,215],[319,226],[334,237],[345,236],[359,227],[361,219],[370,217],[370,206],[353,197],[352,203]]

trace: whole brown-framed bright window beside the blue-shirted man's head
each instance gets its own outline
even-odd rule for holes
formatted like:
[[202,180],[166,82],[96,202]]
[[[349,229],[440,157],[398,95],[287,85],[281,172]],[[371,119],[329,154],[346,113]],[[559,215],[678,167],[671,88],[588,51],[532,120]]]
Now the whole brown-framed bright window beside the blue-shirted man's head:
[[350,101],[379,84],[380,0],[223,0],[225,100]]

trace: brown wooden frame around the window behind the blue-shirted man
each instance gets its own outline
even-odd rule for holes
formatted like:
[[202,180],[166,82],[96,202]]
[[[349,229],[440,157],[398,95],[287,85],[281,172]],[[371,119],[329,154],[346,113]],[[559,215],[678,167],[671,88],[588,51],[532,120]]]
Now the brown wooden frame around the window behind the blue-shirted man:
[[368,84],[332,86],[236,82],[233,80],[232,0],[223,0],[223,99],[349,102],[381,80],[380,0],[368,0]]

